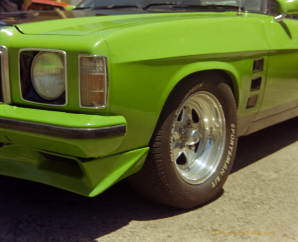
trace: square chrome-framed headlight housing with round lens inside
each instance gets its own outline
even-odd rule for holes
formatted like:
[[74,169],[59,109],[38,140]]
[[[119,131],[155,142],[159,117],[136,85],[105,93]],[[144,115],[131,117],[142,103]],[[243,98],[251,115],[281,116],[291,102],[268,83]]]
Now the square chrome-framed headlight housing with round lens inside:
[[19,84],[21,98],[30,103],[66,106],[66,52],[55,49],[19,50]]

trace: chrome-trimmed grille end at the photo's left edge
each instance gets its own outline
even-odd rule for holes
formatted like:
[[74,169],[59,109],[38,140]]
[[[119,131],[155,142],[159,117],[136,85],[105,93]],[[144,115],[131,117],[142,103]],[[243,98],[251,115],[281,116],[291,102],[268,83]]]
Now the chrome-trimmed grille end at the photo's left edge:
[[10,98],[10,84],[9,84],[9,65],[8,65],[8,51],[7,48],[3,45],[0,45],[0,59],[1,59],[1,86],[2,89],[0,92],[2,92],[3,95],[3,102],[0,103],[11,103]]

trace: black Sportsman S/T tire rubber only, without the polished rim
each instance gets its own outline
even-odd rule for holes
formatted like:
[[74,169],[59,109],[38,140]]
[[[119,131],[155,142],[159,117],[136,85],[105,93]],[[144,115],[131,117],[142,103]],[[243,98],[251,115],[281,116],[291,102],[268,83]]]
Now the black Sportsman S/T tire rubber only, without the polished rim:
[[[174,147],[176,147],[171,143],[173,141],[173,128],[175,128],[173,124],[175,120],[177,121],[179,119],[178,110],[181,110],[181,105],[188,102],[193,95],[199,95],[202,98],[207,93],[210,93],[207,96],[213,99],[215,101],[214,103],[217,103],[217,101],[220,103],[226,118],[224,149],[220,154],[221,156],[218,162],[215,162],[215,172],[206,176],[207,178],[205,180],[203,179],[204,182],[192,183],[187,180],[191,180],[191,176],[188,177],[185,175],[183,177],[182,173],[181,177],[181,172],[177,169],[177,167],[180,167],[180,164],[176,158],[175,162],[173,162],[172,153]],[[209,105],[209,107],[212,106],[213,104]],[[216,115],[213,117],[216,117]],[[209,127],[205,128],[208,129]],[[215,130],[215,126],[213,128]],[[208,132],[210,132],[210,129]],[[212,134],[212,131],[210,134]],[[207,136],[204,137],[206,141]],[[181,138],[181,140],[184,140],[184,138]],[[188,143],[186,144],[188,145]],[[164,104],[159,121],[150,140],[148,158],[141,171],[130,178],[131,184],[144,197],[165,205],[178,208],[192,208],[204,204],[213,199],[221,190],[232,168],[236,144],[236,104],[231,88],[225,79],[218,73],[212,72],[190,76],[176,85],[167,102]],[[204,150],[204,145],[202,147]],[[192,162],[196,162],[196,159],[192,160]],[[205,162],[204,164],[210,165],[211,163]],[[189,167],[192,169],[193,166],[190,165]]]

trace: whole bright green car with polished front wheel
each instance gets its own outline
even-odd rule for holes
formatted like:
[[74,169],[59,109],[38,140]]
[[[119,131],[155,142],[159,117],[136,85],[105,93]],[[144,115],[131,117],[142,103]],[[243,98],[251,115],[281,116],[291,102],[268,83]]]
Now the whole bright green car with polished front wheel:
[[210,201],[238,136],[298,116],[297,13],[86,0],[1,14],[0,173],[89,197],[129,176],[162,204]]

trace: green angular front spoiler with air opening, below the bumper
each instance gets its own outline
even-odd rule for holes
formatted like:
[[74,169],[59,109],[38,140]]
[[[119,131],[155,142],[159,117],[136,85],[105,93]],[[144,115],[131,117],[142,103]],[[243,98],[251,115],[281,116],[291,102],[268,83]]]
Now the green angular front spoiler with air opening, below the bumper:
[[66,155],[51,160],[40,152],[45,151],[20,145],[0,148],[1,174],[38,181],[94,197],[117,181],[137,172],[145,161],[148,148],[89,162],[82,162],[76,157]]

